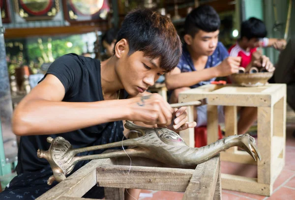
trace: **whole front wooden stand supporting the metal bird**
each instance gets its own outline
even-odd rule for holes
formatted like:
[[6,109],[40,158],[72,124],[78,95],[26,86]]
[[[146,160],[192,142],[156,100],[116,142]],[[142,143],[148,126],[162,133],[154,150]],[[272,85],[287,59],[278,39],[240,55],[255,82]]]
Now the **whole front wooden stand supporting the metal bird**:
[[219,154],[194,169],[179,169],[146,159],[92,160],[37,200],[81,198],[95,184],[105,187],[106,200],[124,200],[124,188],[184,192],[183,200],[221,200]]

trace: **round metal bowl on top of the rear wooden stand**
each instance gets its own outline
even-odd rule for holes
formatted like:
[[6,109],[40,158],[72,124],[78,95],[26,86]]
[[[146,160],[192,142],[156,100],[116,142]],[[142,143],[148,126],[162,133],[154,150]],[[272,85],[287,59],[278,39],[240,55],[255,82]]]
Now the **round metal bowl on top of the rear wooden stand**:
[[241,73],[232,74],[231,80],[239,86],[264,86],[267,81],[272,77],[273,72],[258,72],[258,73]]

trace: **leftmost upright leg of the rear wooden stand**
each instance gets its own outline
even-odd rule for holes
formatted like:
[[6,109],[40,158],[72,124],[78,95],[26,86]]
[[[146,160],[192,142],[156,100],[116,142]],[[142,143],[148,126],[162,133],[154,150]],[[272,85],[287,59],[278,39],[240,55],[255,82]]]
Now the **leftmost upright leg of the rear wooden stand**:
[[218,140],[217,106],[207,105],[207,144]]

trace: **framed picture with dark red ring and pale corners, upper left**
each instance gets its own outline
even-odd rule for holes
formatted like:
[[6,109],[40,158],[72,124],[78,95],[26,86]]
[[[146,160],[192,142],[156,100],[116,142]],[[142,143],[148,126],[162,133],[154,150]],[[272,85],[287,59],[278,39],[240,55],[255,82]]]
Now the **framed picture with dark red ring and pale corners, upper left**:
[[14,0],[14,5],[26,21],[51,20],[59,13],[59,0]]

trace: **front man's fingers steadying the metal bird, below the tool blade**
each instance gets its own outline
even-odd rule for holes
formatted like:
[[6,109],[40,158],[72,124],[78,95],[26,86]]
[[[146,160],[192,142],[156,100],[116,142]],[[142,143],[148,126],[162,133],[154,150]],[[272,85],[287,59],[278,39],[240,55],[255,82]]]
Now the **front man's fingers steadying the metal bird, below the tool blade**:
[[[176,116],[176,118],[169,126],[167,126],[167,128],[170,130],[179,132],[187,128],[194,128],[195,126],[197,126],[197,123],[195,121],[187,121],[186,107],[181,107],[179,109],[175,108],[173,116]],[[158,127],[161,127],[161,125],[158,125]]]

